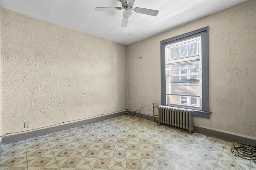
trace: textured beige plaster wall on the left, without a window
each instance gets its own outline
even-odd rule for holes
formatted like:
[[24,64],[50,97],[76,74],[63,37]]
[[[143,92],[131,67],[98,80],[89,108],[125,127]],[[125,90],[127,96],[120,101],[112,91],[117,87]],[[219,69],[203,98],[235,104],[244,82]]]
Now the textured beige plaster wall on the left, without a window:
[[125,45],[3,8],[1,40],[3,135],[127,108]]

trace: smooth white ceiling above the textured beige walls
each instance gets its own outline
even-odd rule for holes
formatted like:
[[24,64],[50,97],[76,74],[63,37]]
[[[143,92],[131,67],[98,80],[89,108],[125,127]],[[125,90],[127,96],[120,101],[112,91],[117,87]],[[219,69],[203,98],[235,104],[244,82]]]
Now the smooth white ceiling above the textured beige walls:
[[120,0],[0,0],[0,6],[128,45],[244,1],[136,0],[134,8],[159,10],[159,13],[156,17],[134,13],[127,27],[121,27],[124,10],[95,11],[95,7],[122,7]]

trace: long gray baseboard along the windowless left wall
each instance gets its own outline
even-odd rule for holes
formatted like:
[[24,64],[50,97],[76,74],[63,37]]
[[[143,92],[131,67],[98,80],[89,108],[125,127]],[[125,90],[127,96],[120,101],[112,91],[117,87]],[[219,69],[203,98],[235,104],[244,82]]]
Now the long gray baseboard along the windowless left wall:
[[102,120],[110,119],[110,118],[113,118],[113,117],[118,117],[118,116],[121,116],[121,115],[125,115],[126,114],[125,112],[126,111],[120,111],[118,113],[102,115],[100,117],[94,117],[94,118],[91,118],[91,119],[86,119],[86,120],[82,120],[82,121],[68,123],[68,124],[65,124],[65,125],[58,125],[58,126],[49,127],[49,128],[46,128],[46,129],[40,129],[40,130],[31,131],[31,132],[25,132],[25,133],[10,135],[10,136],[3,137],[2,140],[1,140],[1,143],[3,143],[3,144],[13,143],[13,142],[16,142],[16,141],[29,139],[29,138],[32,138],[32,137],[46,135],[48,133],[62,131],[62,130],[65,130],[65,129],[78,127],[78,126],[86,125],[86,124],[89,124],[89,123],[94,123],[94,122],[97,122],[97,121],[102,121]]

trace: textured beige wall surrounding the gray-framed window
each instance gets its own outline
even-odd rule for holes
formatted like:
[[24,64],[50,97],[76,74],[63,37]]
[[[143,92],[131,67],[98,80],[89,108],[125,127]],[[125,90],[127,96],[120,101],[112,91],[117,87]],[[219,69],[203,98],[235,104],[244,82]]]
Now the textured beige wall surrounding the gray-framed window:
[[[160,105],[160,41],[209,26],[210,119],[194,125],[256,139],[256,1],[128,45],[128,108]],[[171,22],[171,21],[170,21]],[[142,57],[138,59],[138,57]]]

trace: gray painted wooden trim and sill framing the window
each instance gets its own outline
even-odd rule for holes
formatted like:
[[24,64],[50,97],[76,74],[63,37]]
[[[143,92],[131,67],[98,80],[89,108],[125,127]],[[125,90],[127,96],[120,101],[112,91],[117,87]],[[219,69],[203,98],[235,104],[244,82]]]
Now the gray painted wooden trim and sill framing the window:
[[208,27],[197,29],[189,33],[178,35],[160,42],[161,62],[161,105],[166,106],[166,84],[165,84],[165,46],[182,39],[202,35],[202,111],[194,110],[194,116],[210,119],[209,109],[209,37]]

